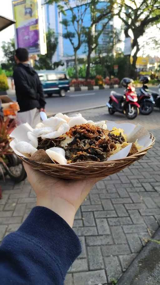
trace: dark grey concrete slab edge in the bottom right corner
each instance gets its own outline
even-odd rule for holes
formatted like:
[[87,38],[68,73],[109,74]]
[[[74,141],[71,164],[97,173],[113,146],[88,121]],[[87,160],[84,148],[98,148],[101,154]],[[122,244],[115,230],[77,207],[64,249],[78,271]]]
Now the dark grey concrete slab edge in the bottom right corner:
[[[160,240],[160,228],[152,240]],[[120,277],[117,285],[160,284],[160,244],[149,241]]]

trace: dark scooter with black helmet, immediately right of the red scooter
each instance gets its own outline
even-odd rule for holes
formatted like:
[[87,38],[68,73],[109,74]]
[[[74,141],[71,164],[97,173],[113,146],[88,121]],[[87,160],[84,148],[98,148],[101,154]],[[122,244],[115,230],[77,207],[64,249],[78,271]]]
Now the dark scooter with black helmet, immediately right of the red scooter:
[[154,106],[160,108],[160,95],[158,92],[148,89],[146,84],[149,80],[150,77],[148,75],[141,76],[139,80],[143,83],[143,86],[139,89],[140,93],[138,93],[139,111],[143,115],[151,114]]

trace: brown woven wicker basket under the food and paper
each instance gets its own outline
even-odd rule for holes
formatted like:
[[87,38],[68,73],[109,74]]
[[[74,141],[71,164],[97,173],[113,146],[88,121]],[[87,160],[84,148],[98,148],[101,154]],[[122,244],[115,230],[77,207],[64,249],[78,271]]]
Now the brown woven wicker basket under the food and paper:
[[104,162],[80,162],[67,165],[60,165],[54,163],[43,163],[33,161],[28,158],[18,156],[22,161],[31,165],[32,168],[38,169],[48,175],[53,177],[59,177],[63,179],[83,179],[83,178],[103,178],[108,175],[117,173],[127,166],[133,164],[138,159],[143,158],[147,153],[148,149],[151,148],[155,142],[155,137],[151,135],[152,143],[151,145],[144,149],[142,152],[133,154],[123,159],[114,160],[114,161],[104,161]]

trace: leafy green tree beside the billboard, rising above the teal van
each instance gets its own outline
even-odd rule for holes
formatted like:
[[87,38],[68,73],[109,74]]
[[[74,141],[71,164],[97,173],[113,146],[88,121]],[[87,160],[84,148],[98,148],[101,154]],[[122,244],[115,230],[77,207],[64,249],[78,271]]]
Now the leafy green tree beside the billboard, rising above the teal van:
[[39,59],[35,61],[35,68],[37,70],[42,69],[56,69],[59,65],[64,65],[63,62],[60,60],[58,62],[52,62],[53,55],[58,46],[58,37],[55,35],[53,29],[48,29],[46,33],[46,42],[47,42],[47,54],[40,54]]

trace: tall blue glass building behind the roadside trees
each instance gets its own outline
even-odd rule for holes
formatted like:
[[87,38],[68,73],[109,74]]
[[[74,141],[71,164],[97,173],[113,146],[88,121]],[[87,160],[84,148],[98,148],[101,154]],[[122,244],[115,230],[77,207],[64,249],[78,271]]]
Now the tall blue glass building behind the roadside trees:
[[[78,8],[75,5],[75,1],[71,1],[70,4],[72,5],[74,12],[78,13]],[[104,5],[106,5],[106,2],[100,1],[98,8],[103,8]],[[66,15],[62,15],[58,11],[58,7],[56,3],[53,3],[52,5],[44,5],[45,6],[45,20],[46,20],[46,31],[48,28],[54,29],[55,33],[58,35],[58,49],[56,53],[54,54],[53,61],[59,61],[63,60],[67,62],[67,65],[73,64],[73,58],[74,58],[74,51],[72,44],[70,43],[69,39],[64,39],[63,34],[66,32],[64,25],[61,24],[61,21],[63,19],[67,19],[68,21],[72,17],[72,13],[69,9],[65,9]],[[85,4],[82,5],[82,11],[85,8]],[[106,19],[105,19],[106,21]],[[85,16],[83,18],[83,26],[89,27],[91,23],[91,14],[90,9],[87,9]],[[95,27],[95,30],[100,30],[102,28],[102,25],[104,23],[104,20],[98,23],[98,25]],[[74,33],[74,28],[72,25],[68,27],[68,30],[70,32]],[[103,30],[103,33],[99,37],[99,49],[102,53],[105,53],[107,51],[108,44],[110,44],[113,41],[113,21],[110,21],[106,28]],[[73,39],[74,43],[77,43],[77,37]],[[77,52],[78,57],[85,57],[87,55],[87,46],[85,43],[83,43],[80,47],[80,49]]]

